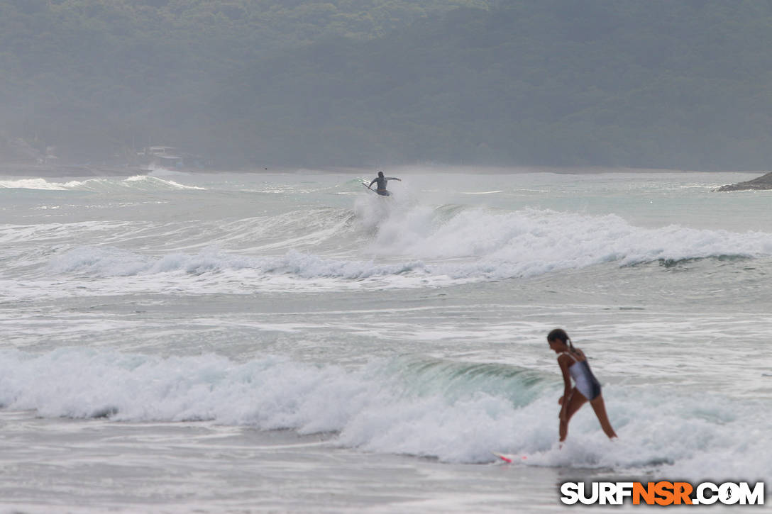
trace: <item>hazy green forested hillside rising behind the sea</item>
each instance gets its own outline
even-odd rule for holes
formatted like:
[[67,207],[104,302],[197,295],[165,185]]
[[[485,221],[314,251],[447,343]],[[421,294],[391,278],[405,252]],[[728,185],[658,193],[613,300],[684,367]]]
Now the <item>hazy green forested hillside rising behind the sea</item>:
[[772,2],[6,0],[0,134],[229,167],[767,169],[770,43]]

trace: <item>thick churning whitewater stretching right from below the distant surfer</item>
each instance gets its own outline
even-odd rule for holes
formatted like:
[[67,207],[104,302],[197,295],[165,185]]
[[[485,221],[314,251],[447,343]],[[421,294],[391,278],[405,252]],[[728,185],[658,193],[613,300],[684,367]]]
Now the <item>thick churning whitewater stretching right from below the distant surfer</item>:
[[[617,215],[482,208],[394,210],[378,226],[371,250],[441,265],[451,276],[534,276],[604,262],[631,265],[711,256],[772,255],[772,234],[698,230],[679,225],[641,228]],[[460,265],[452,259],[466,259]],[[445,263],[443,263],[445,262]]]

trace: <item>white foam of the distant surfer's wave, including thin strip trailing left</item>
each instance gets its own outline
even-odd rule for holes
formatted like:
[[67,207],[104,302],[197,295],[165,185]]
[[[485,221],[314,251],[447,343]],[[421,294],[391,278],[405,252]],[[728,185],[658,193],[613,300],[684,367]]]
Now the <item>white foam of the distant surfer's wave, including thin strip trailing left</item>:
[[[364,227],[370,235],[363,238],[356,235],[362,225],[349,226],[347,216],[337,216],[336,212],[323,217],[329,225],[318,219],[314,224],[294,216],[280,218],[277,233],[256,232],[255,228],[246,229],[243,223],[236,223],[228,228],[234,231],[233,241],[225,238],[223,244],[241,244],[242,239],[249,238],[253,245],[249,255],[246,250],[235,254],[227,249],[147,255],[107,246],[82,246],[57,255],[49,268],[97,276],[224,270],[301,279],[399,276],[401,285],[409,286],[411,277],[418,281],[428,277],[463,282],[539,276],[610,262],[634,265],[725,255],[772,255],[772,234],[767,232],[700,230],[679,225],[641,228],[616,215],[535,209],[490,211],[459,206],[431,209],[419,205],[386,210],[380,222],[364,218],[374,226]],[[332,246],[332,241],[339,241],[340,247]],[[313,249],[310,242],[325,242],[325,255],[293,249],[301,243]],[[272,255],[254,255],[266,250]],[[282,250],[283,255],[276,255]],[[338,256],[341,252],[345,256]],[[350,258],[357,254],[361,259]]]

